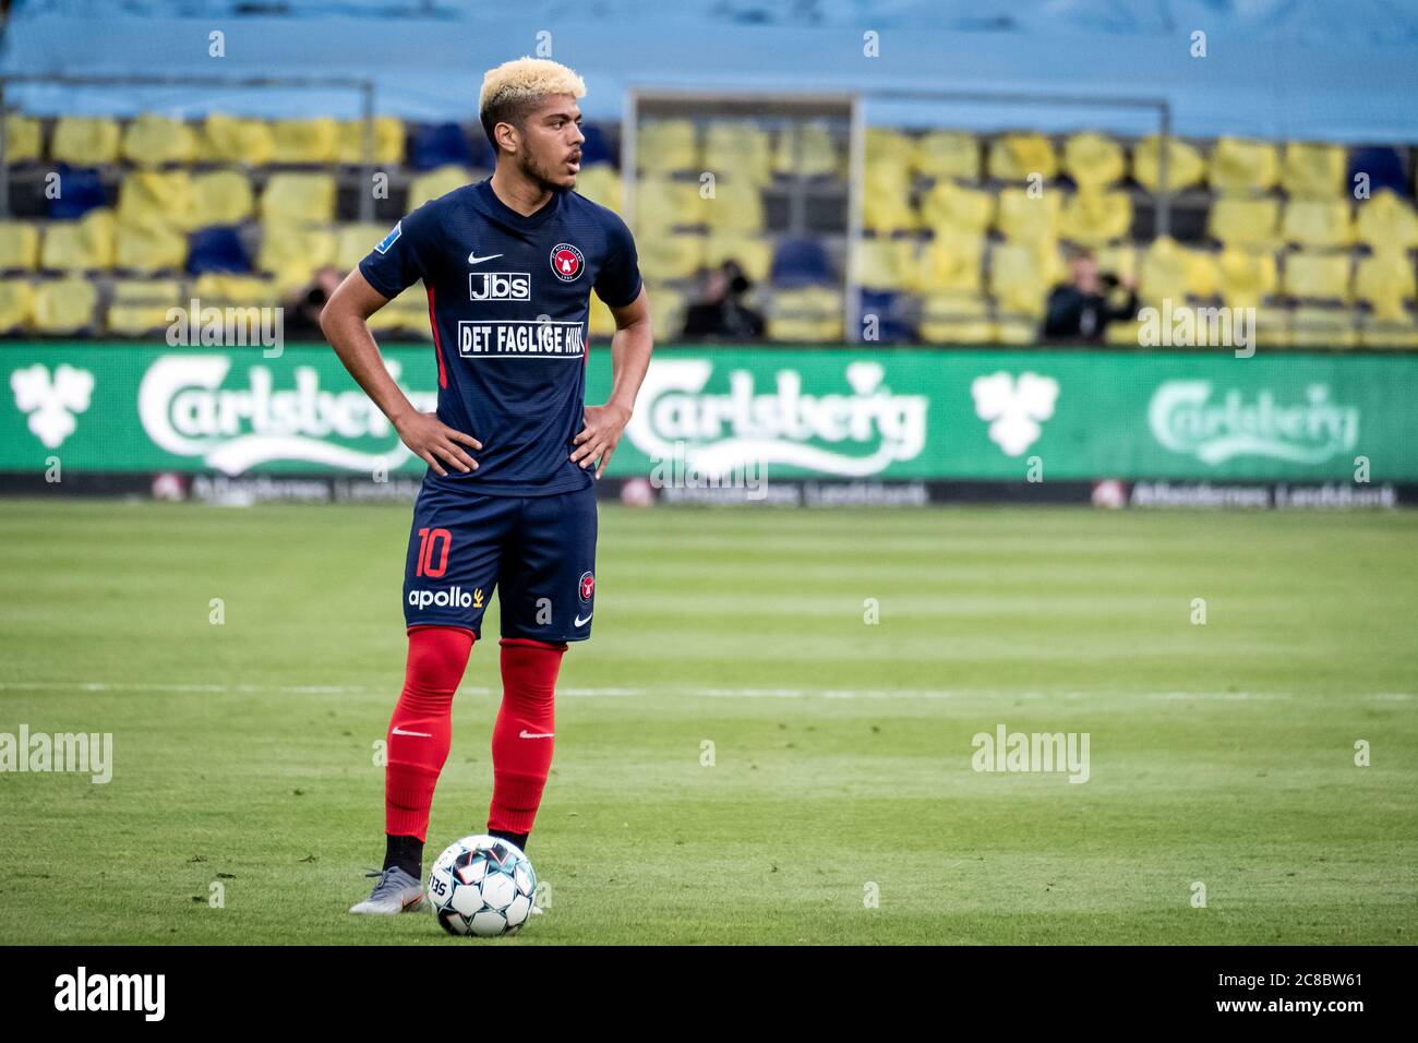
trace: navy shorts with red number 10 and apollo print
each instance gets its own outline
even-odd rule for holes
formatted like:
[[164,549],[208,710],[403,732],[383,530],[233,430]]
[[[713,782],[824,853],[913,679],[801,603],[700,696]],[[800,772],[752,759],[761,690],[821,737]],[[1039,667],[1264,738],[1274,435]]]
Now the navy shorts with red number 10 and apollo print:
[[425,481],[404,562],[404,623],[482,637],[498,592],[503,637],[584,641],[596,606],[596,487],[488,497]]

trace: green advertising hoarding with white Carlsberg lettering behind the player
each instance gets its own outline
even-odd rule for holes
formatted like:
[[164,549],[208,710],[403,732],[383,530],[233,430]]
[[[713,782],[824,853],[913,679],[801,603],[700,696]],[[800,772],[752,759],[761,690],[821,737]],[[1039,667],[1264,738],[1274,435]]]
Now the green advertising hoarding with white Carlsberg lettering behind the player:
[[[384,351],[432,409],[431,346]],[[0,348],[0,471],[418,474],[329,348]],[[588,399],[610,387],[593,349]],[[1418,481],[1418,356],[664,348],[611,474]],[[476,431],[479,437],[493,433]]]

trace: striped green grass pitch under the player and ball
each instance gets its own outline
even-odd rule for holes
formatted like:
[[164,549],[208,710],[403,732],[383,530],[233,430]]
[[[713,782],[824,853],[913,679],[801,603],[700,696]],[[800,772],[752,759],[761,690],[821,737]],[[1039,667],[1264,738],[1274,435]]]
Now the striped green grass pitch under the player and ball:
[[[0,942],[469,944],[346,912],[407,525],[0,504],[0,732],[113,735],[0,773]],[[1415,514],[603,507],[597,580],[495,944],[1418,941]],[[486,822],[485,633],[425,867]],[[1000,724],[1090,778],[973,771]]]

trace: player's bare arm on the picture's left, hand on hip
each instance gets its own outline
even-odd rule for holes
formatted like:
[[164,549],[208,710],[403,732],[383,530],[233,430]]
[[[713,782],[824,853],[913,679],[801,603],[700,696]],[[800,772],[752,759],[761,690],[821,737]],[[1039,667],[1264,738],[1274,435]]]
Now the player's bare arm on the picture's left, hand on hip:
[[354,383],[364,389],[370,400],[389,417],[400,440],[414,456],[424,460],[440,475],[447,475],[444,464],[459,471],[478,467],[462,446],[482,448],[482,443],[471,434],[454,430],[441,423],[432,413],[420,413],[403,389],[389,375],[384,359],[369,332],[369,316],[389,304],[356,268],[335,292],[330,294],[325,311],[320,312],[320,331],[325,333],[345,369]]

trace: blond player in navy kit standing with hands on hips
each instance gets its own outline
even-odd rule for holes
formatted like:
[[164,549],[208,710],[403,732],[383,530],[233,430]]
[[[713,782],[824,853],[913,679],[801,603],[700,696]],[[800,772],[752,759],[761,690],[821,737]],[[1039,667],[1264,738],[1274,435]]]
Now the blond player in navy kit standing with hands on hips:
[[[649,365],[649,305],[630,230],[573,192],[586,85],[554,61],[489,71],[478,112],[492,177],[414,210],[320,316],[345,368],[428,463],[404,565],[408,658],[389,725],[384,867],[350,912],[423,901],[423,847],[448,758],[450,712],[493,589],[502,705],[486,832],[526,847],[552,766],[553,698],[569,641],[591,633],[596,482]],[[423,280],[438,409],[417,412],[366,321]],[[586,404],[590,291],[615,316],[613,387]],[[594,468],[594,471],[593,471]]]

